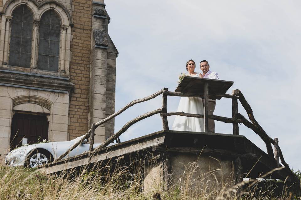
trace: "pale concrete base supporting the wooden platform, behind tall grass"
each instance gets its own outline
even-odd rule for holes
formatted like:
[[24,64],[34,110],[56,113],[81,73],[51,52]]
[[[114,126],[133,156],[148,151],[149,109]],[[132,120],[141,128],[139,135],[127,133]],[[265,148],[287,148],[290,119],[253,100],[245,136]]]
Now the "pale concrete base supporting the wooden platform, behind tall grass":
[[[212,192],[231,186],[236,178],[231,159],[187,153],[172,153],[168,158],[169,162],[164,160],[145,167],[144,192],[151,194],[175,187],[199,194],[209,188]],[[166,172],[168,168],[169,172]]]

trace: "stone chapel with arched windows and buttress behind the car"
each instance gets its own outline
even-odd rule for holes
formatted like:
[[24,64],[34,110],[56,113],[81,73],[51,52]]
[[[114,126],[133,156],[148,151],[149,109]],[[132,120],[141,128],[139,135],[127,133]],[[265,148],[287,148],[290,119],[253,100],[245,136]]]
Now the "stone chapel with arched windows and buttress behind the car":
[[[116,57],[104,0],[0,0],[0,156],[87,133],[115,111]],[[95,130],[114,134],[114,119]]]

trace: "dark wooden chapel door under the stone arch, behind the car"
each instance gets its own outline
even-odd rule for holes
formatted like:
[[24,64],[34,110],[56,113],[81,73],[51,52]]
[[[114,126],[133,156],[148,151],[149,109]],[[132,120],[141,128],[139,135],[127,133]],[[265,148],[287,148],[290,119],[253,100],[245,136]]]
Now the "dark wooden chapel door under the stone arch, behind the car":
[[28,144],[48,139],[48,121],[43,115],[15,113],[11,130],[11,149],[22,146],[22,138],[27,138]]

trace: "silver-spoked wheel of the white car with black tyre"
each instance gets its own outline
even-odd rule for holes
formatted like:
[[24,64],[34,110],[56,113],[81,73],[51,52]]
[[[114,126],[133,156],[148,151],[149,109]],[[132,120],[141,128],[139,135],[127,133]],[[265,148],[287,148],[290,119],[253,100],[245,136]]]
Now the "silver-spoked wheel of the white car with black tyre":
[[35,168],[47,164],[52,161],[52,156],[49,152],[43,150],[34,150],[27,156],[25,166]]

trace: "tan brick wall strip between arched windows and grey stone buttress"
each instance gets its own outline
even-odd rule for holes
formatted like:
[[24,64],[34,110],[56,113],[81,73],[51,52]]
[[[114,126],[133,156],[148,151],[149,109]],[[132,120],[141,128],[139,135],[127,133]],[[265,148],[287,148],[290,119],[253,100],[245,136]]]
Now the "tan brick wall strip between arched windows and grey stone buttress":
[[70,139],[88,130],[92,0],[73,0],[72,5],[70,79],[75,87],[69,107]]

